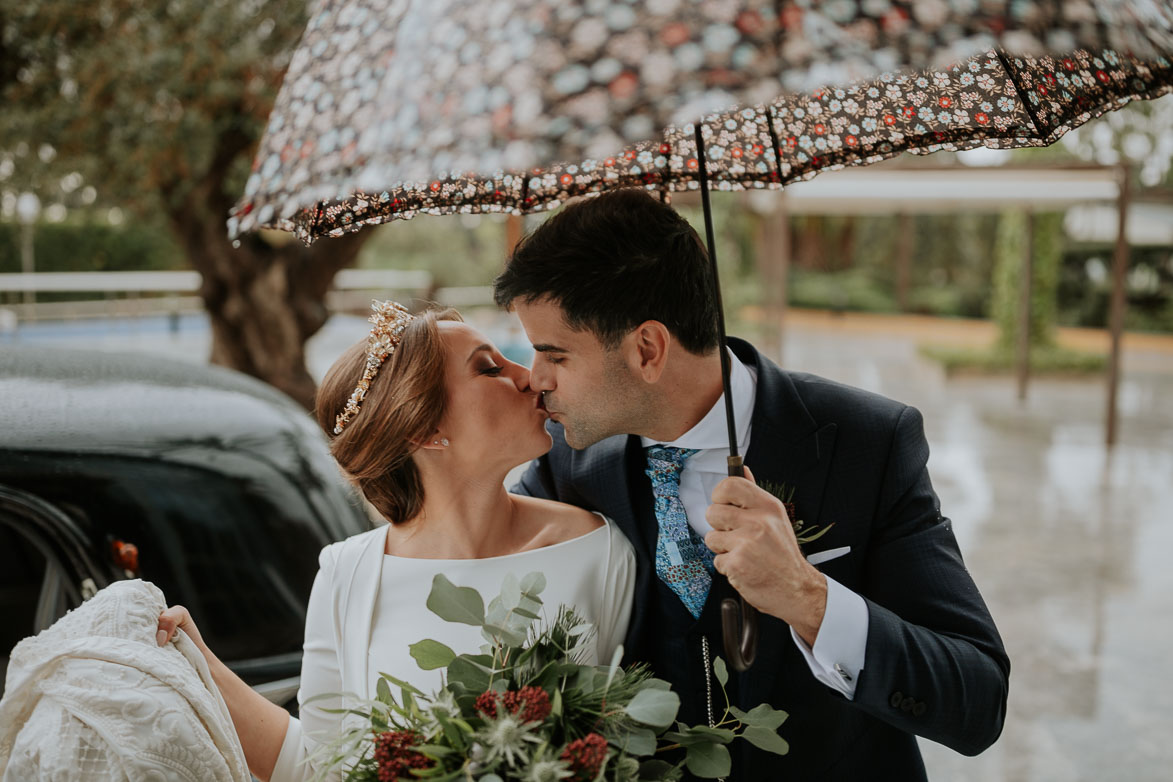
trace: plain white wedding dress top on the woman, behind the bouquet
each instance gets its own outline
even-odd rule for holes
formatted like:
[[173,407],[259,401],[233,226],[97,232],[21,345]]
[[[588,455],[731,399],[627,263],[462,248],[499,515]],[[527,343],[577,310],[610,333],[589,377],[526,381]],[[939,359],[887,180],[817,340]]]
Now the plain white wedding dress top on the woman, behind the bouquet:
[[[421,671],[408,646],[426,638],[456,653],[475,653],[484,644],[479,627],[447,623],[428,611],[432,579],[443,573],[457,586],[477,590],[486,604],[501,592],[506,576],[545,576],[541,598],[552,620],[561,604],[596,627],[588,662],[609,662],[623,644],[635,590],[635,552],[611,523],[581,537],[543,549],[487,559],[414,559],[384,553],[386,528],[327,546],[319,559],[306,614],[305,657],[298,702],[318,694],[374,696],[379,673],[402,679],[425,693],[441,684],[441,671]],[[398,691],[393,691],[396,692]],[[339,734],[337,708],[348,699],[303,706],[291,719],[272,782],[308,780],[307,756]],[[345,718],[346,725],[354,718]]]

